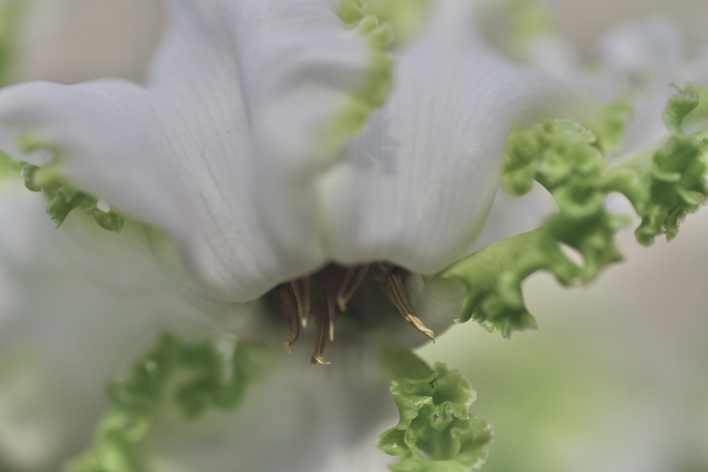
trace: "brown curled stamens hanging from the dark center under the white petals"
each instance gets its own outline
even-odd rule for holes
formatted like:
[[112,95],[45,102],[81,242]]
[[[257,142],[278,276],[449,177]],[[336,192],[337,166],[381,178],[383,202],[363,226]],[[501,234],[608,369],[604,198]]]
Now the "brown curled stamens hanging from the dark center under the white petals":
[[355,297],[358,287],[365,280],[373,280],[389,300],[414,328],[435,343],[435,333],[426,328],[409,301],[406,287],[401,280],[401,267],[389,263],[327,265],[312,276],[280,284],[274,292],[278,295],[282,312],[287,321],[288,337],[283,343],[290,354],[290,347],[299,338],[300,329],[307,328],[310,314],[314,316],[315,342],[310,368],[315,364],[331,364],[323,357],[326,340],[334,340],[334,325],[339,316],[347,314],[347,305]]

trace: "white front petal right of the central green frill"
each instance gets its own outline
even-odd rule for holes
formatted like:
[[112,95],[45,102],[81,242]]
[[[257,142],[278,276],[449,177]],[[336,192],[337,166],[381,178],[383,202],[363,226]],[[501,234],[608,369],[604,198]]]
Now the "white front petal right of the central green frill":
[[506,64],[474,35],[464,1],[439,2],[401,53],[394,91],[324,177],[329,250],[432,274],[481,231],[515,122],[550,108],[552,81]]

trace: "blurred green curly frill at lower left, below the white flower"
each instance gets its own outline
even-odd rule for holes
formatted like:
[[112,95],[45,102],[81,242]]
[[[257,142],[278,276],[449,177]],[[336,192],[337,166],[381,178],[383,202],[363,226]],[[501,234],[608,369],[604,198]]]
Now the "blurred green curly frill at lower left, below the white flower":
[[[221,340],[224,341],[224,340]],[[249,383],[264,371],[256,347],[204,340],[187,343],[161,335],[124,378],[108,387],[113,406],[98,425],[90,449],[67,472],[149,472],[142,444],[170,401],[195,420],[208,408],[234,410]]]

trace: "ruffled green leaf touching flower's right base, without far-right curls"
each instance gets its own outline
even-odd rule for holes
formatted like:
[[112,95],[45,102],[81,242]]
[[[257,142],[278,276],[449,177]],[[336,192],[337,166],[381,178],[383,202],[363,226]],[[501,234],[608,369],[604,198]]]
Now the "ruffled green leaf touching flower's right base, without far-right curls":
[[[526,277],[546,270],[568,286],[589,282],[622,260],[614,236],[628,221],[605,210],[606,167],[595,133],[576,122],[547,121],[510,134],[504,189],[525,195],[538,182],[553,195],[559,212],[541,229],[498,241],[438,275],[467,285],[460,322],[474,319],[504,336],[535,328],[521,290]],[[568,250],[583,263],[574,262],[564,252]]]

